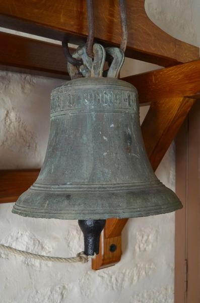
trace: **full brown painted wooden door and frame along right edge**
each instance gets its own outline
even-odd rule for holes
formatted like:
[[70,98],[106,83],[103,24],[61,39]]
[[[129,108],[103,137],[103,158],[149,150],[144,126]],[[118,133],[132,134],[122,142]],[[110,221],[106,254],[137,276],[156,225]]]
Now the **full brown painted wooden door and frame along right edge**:
[[176,137],[175,303],[200,301],[199,117],[197,102]]

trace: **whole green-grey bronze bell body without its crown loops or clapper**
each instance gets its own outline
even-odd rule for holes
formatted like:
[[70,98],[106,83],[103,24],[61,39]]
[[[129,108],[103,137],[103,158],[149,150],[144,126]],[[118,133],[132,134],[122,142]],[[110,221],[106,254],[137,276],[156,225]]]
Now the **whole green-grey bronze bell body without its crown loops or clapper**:
[[80,78],[52,91],[45,160],[13,213],[86,220],[181,207],[149,163],[134,86],[114,78]]

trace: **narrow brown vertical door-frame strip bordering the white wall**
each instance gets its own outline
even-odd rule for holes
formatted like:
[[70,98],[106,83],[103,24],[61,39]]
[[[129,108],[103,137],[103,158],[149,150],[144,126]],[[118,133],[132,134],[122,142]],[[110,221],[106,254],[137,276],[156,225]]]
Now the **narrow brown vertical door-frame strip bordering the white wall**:
[[188,118],[176,136],[176,194],[183,208],[175,213],[175,303],[185,303],[186,299],[187,129]]

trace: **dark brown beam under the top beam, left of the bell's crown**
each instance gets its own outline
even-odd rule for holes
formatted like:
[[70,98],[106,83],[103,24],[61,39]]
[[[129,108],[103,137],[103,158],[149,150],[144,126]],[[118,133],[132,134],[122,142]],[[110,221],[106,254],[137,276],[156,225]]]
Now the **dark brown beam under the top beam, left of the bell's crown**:
[[69,79],[61,45],[0,32],[0,69]]

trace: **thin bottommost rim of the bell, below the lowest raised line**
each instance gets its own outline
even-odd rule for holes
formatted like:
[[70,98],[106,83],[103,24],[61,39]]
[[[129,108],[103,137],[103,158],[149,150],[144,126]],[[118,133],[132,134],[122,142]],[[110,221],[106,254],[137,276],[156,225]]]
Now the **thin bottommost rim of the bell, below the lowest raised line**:
[[29,217],[29,218],[41,218],[41,219],[59,219],[59,220],[100,220],[100,219],[110,219],[110,218],[116,218],[116,219],[125,219],[125,218],[139,218],[139,217],[148,217],[148,216],[155,216],[155,215],[162,215],[162,214],[168,214],[172,213],[174,211],[177,211],[179,209],[182,209],[182,204],[180,201],[178,201],[176,204],[173,204],[173,206],[169,207],[163,207],[160,209],[152,208],[147,209],[146,211],[132,211],[132,212],[112,212],[112,214],[83,214],[83,213],[77,213],[77,214],[61,214],[61,213],[40,213],[40,212],[34,212],[33,210],[27,211],[23,207],[16,207],[14,205],[12,213],[20,215],[22,217]]

